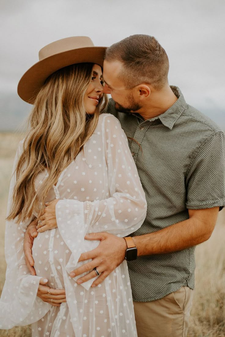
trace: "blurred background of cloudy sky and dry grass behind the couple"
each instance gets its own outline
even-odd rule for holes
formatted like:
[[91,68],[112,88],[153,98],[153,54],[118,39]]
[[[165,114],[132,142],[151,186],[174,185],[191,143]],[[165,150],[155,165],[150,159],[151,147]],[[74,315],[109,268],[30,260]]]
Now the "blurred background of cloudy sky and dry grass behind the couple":
[[[17,95],[24,72],[46,44],[75,35],[108,46],[132,34],[158,39],[170,60],[169,82],[187,103],[225,130],[224,0],[0,1],[0,287],[5,278],[4,226],[13,157],[31,105]],[[189,337],[225,337],[225,212],[196,249],[196,290]],[[0,289],[1,290],[1,289]],[[31,336],[30,327],[0,336]]]

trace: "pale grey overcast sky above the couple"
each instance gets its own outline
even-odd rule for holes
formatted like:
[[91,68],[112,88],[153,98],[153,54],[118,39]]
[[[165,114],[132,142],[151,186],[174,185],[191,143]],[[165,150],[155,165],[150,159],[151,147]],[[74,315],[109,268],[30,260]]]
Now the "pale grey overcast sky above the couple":
[[170,60],[169,82],[197,108],[224,109],[224,0],[1,0],[0,91],[16,92],[44,45],[90,36],[110,45],[155,36]]

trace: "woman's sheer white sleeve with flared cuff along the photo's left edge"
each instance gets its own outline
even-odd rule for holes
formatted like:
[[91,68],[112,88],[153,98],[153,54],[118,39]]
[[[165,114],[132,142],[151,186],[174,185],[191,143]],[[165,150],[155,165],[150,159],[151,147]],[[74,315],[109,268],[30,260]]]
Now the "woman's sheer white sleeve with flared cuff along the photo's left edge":
[[[7,216],[9,215],[16,182],[16,165],[22,152],[22,143],[16,153],[10,181]],[[6,221],[5,259],[7,263],[5,284],[0,299],[0,329],[34,323],[51,308],[51,305],[36,297],[41,277],[31,276],[25,264],[24,233],[32,218],[20,224]]]

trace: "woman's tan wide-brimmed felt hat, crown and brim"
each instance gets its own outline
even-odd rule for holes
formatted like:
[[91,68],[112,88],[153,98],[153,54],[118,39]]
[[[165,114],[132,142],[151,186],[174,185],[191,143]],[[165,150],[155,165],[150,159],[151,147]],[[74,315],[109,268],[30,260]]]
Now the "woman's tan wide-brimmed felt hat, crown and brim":
[[17,92],[33,104],[46,79],[56,70],[75,63],[91,62],[103,66],[107,47],[95,47],[88,36],[72,36],[54,41],[39,51],[39,61],[20,79]]

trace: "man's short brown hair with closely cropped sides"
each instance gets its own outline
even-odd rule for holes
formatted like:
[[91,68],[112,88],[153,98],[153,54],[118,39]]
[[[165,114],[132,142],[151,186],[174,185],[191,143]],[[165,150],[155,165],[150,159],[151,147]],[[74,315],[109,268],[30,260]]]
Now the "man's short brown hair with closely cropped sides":
[[119,79],[127,89],[148,83],[159,90],[168,83],[168,56],[153,36],[136,34],[126,37],[107,48],[105,60],[123,64]]

